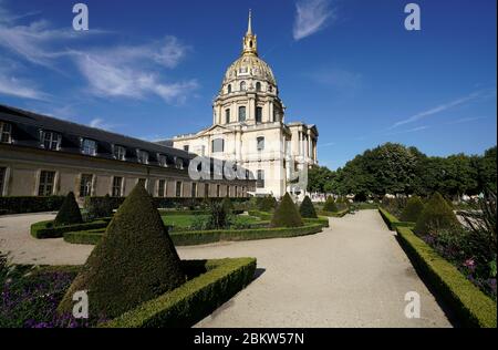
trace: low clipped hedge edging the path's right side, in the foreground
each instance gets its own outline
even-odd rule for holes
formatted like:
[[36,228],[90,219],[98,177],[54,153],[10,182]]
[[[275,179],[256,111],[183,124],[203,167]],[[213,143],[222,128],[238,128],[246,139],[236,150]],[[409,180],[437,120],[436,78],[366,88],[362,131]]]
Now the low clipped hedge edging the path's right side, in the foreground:
[[455,311],[465,327],[497,327],[497,305],[409,228],[397,227],[398,240],[415,268]]

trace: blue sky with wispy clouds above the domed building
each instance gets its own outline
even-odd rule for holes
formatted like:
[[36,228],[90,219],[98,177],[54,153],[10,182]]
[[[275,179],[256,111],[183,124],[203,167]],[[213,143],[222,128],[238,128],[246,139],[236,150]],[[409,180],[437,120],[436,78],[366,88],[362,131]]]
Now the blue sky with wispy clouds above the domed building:
[[0,0],[0,103],[146,138],[197,132],[252,9],[286,121],[317,124],[331,168],[384,142],[429,155],[497,142],[496,1]]

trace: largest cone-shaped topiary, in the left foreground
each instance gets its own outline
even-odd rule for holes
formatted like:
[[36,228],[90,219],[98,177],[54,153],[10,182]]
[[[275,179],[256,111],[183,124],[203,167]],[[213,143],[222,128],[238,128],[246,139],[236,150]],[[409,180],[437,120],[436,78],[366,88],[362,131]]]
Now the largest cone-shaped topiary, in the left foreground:
[[136,185],[66,291],[58,311],[71,312],[86,290],[90,318],[114,318],[186,280],[173,241],[144,186]]

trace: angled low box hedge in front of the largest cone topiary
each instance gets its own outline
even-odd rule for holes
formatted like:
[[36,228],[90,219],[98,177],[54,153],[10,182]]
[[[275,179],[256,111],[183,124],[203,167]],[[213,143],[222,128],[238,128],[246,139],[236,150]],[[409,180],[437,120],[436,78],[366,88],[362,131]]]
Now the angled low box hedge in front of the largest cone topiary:
[[206,272],[100,327],[191,327],[248,286],[256,271],[255,258],[194,260],[190,265]]

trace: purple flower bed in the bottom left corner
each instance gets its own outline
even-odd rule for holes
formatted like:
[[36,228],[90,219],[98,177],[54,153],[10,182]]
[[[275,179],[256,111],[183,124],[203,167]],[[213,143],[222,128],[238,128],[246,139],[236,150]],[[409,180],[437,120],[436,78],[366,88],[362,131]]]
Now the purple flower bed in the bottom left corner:
[[56,312],[59,302],[77,274],[74,268],[10,269],[9,277],[0,280],[1,328],[76,328],[95,323]]

